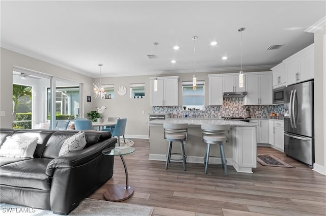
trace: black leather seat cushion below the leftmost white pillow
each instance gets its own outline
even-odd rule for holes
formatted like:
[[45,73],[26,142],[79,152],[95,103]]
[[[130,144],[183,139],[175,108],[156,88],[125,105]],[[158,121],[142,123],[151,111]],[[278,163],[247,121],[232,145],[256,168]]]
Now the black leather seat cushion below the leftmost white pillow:
[[51,178],[45,174],[51,159],[35,158],[18,161],[1,167],[1,184],[13,187],[51,189]]

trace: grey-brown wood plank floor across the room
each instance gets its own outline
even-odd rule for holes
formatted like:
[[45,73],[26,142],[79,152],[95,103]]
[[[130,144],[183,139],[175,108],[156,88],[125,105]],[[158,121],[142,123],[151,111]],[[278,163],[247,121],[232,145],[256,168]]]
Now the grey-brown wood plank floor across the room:
[[[258,164],[253,174],[237,173],[228,166],[149,161],[149,142],[132,139],[135,152],[124,156],[129,184],[134,194],[123,202],[154,207],[157,215],[326,215],[326,177],[270,147],[258,153],[273,154],[295,168],[266,167]],[[120,157],[115,157],[114,175],[90,198],[103,200],[108,184],[125,183]]]

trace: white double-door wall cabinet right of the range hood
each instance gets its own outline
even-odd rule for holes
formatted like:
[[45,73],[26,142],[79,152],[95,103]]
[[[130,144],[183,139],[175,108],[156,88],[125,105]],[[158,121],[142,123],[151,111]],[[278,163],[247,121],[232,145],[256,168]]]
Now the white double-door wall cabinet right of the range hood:
[[246,91],[243,105],[271,105],[272,100],[272,74],[271,72],[248,73],[245,76]]

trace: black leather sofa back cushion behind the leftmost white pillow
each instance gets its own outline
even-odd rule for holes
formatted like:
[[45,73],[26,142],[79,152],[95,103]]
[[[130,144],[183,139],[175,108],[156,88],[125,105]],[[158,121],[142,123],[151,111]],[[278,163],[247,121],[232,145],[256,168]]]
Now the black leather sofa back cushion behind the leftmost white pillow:
[[12,134],[12,137],[19,139],[30,139],[31,137],[38,137],[37,146],[34,152],[34,158],[41,158],[45,145],[50,136],[55,133],[53,130],[20,130]]

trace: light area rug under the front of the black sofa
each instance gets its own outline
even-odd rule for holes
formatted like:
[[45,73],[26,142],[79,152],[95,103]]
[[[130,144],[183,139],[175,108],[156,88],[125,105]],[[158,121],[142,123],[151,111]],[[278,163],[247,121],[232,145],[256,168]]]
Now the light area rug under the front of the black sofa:
[[[4,215],[55,215],[50,210],[24,207],[18,205],[11,205],[1,203],[1,212]],[[68,215],[108,215],[108,216],[150,216],[152,215],[153,208],[145,205],[135,205],[129,203],[109,202],[105,200],[95,200],[86,198],[79,205],[73,209]]]

